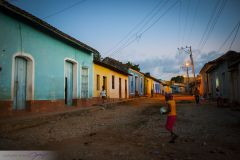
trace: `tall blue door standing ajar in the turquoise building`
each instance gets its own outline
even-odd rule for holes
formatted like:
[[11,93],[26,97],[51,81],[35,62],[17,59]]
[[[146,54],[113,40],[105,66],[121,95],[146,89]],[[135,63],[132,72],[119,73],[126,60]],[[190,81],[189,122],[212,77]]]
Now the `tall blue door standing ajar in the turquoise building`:
[[73,64],[66,61],[65,66],[65,104],[72,106],[73,99]]

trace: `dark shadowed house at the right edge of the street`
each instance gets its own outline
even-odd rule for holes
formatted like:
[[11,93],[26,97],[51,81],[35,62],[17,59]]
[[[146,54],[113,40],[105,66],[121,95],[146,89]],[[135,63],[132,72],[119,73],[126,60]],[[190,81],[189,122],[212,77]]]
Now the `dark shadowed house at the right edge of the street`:
[[229,102],[233,99],[239,99],[239,59],[240,53],[228,51],[221,57],[205,64],[200,71],[200,88],[203,90],[203,95],[216,98],[216,90],[218,89],[221,97]]

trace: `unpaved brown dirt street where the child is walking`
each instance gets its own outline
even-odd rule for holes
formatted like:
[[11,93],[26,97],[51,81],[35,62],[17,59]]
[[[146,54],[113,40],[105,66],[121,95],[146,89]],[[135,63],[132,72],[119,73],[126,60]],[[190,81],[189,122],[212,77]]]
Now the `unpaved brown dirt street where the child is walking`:
[[65,160],[240,159],[239,111],[179,101],[179,138],[170,144],[161,105],[140,99],[1,125],[0,150],[55,150]]

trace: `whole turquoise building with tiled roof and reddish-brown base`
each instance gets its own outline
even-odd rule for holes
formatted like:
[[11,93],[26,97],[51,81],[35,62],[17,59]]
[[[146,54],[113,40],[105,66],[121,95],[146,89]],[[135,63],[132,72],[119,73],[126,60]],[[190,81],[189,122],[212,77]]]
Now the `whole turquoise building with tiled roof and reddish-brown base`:
[[95,49],[0,2],[0,110],[79,106],[92,97]]

